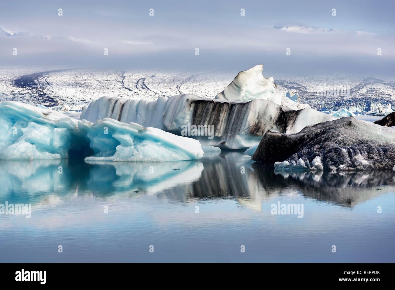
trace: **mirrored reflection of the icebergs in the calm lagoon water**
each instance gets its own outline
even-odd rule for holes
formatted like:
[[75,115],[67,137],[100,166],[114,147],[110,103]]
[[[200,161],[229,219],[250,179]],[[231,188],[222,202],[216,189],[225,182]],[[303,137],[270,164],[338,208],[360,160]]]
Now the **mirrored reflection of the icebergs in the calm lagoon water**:
[[166,163],[0,161],[0,176],[0,200],[33,205],[49,196],[156,194],[177,201],[231,197],[257,209],[268,198],[293,189],[309,198],[352,207],[395,185],[392,172],[289,173],[254,163],[241,152],[226,151],[205,153],[199,161]]

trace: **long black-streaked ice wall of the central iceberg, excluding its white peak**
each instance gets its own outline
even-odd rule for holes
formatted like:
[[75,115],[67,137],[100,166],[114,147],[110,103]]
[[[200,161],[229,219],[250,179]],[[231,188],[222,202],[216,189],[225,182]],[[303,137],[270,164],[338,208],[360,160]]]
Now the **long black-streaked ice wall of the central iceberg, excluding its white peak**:
[[[90,103],[80,117],[90,122],[102,118],[136,122],[176,135],[187,133],[202,145],[230,149],[247,149],[259,143],[269,129],[297,133],[307,125],[335,119],[309,107],[291,110],[264,99],[224,101],[191,94],[159,97],[151,102],[102,97]],[[211,134],[199,136],[191,130],[183,131],[193,125],[212,129],[208,131]]]

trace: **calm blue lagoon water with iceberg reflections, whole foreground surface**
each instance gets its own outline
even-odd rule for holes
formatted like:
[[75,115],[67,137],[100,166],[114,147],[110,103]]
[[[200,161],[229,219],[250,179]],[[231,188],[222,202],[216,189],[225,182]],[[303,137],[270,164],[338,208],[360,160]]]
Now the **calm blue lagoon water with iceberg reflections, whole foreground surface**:
[[32,204],[0,215],[0,262],[395,262],[395,172],[290,174],[222,152],[0,161],[0,179],[0,204]]

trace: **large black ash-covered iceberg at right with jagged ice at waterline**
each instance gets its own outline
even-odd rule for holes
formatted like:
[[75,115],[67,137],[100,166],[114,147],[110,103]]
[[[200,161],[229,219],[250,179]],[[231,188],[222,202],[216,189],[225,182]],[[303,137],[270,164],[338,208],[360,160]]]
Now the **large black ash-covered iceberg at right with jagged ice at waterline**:
[[391,170],[394,141],[390,129],[345,117],[292,135],[267,131],[252,159],[288,170]]

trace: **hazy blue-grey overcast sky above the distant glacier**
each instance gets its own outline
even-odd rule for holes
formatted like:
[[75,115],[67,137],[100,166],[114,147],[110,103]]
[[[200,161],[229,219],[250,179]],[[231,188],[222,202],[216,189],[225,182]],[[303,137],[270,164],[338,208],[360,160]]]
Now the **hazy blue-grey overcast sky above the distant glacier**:
[[0,4],[0,27],[24,35],[0,36],[0,65],[243,70],[264,64],[273,73],[393,75],[394,8],[394,0],[7,1]]

